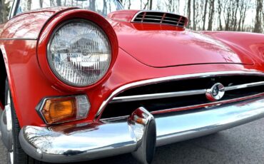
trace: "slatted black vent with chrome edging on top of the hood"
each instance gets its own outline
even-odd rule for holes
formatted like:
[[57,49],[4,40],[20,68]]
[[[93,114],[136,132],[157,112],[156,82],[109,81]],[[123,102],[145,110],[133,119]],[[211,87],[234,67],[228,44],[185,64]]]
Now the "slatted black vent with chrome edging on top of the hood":
[[166,24],[185,28],[188,19],[184,16],[160,11],[138,11],[132,19],[133,23]]

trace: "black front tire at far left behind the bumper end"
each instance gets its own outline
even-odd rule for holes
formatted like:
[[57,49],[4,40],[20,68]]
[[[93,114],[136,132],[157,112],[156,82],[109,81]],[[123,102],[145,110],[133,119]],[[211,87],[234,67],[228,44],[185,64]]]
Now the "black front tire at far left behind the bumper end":
[[[8,98],[10,96],[10,99]],[[14,103],[12,101],[12,96],[9,90],[9,83],[6,80],[6,90],[5,90],[5,105],[10,100],[11,105],[11,119],[12,119],[12,143],[13,143],[13,163],[14,164],[44,164],[39,160],[35,160],[34,158],[29,157],[24,150],[21,148],[19,143],[19,131],[20,125],[19,120],[16,117],[16,111],[14,110]],[[7,154],[7,163],[12,163],[11,155]]]

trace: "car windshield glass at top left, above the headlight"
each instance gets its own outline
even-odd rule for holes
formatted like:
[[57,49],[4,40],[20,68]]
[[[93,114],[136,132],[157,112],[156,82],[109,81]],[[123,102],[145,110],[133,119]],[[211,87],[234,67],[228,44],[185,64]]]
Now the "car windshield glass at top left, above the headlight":
[[123,9],[118,0],[20,0],[16,15],[26,11],[56,6],[76,6],[81,9],[96,11],[103,16]]

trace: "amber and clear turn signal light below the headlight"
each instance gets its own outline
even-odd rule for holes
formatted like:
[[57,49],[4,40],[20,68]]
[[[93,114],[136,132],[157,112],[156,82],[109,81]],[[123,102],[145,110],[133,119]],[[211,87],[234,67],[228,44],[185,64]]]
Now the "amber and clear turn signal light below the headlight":
[[46,98],[41,115],[47,124],[63,123],[86,118],[89,108],[87,96]]

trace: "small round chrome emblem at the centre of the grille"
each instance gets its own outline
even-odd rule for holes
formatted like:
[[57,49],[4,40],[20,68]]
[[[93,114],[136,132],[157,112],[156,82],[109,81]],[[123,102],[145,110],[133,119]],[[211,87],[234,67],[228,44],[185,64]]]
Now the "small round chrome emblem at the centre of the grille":
[[206,90],[205,95],[209,101],[219,101],[225,95],[225,87],[222,83],[215,83],[212,88]]

